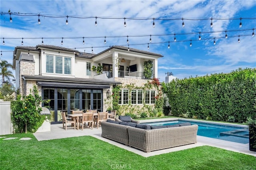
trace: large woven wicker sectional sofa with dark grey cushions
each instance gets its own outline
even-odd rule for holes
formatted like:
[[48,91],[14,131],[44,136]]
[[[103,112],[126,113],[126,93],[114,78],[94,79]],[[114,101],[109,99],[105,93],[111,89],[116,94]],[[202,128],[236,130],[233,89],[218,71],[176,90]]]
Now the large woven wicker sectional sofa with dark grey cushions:
[[153,127],[145,124],[108,120],[102,122],[102,137],[150,152],[196,143],[198,125],[177,124]]

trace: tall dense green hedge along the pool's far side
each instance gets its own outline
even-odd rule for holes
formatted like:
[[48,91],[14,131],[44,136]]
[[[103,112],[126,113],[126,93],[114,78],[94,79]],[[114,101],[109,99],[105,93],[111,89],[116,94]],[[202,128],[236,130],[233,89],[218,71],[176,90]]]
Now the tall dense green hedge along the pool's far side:
[[256,117],[256,69],[163,83],[174,116],[243,123]]

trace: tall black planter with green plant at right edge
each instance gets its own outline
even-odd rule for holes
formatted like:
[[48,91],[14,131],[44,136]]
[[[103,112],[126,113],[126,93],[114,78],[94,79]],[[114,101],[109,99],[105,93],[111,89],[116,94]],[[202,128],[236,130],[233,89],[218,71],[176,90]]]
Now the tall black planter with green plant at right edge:
[[256,119],[249,117],[246,124],[249,127],[249,150],[256,152]]

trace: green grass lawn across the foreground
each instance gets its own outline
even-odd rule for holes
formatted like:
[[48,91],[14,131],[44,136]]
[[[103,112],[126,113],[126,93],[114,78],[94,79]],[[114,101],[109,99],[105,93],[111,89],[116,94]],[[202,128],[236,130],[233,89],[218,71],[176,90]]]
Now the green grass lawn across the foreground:
[[210,146],[144,158],[92,136],[46,141],[33,134],[4,136],[18,139],[0,138],[1,170],[256,170],[256,157]]

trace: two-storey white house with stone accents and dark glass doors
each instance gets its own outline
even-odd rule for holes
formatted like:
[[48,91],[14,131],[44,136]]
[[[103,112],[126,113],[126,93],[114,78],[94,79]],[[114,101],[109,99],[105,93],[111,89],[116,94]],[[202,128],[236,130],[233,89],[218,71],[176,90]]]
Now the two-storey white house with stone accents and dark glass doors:
[[[39,94],[49,103],[52,123],[62,120],[61,111],[97,109],[106,111],[111,103],[112,89],[117,85],[134,84],[142,87],[148,79],[143,75],[144,61],[151,60],[153,74],[158,76],[158,58],[160,54],[150,53],[123,46],[112,46],[98,54],[80,52],[74,49],[54,45],[17,46],[13,55],[13,69],[16,70],[16,89],[22,95],[28,95],[33,85]],[[97,68],[99,67],[99,68]],[[100,70],[93,71],[95,69]],[[147,91],[148,105],[154,105],[150,97],[156,91]],[[151,94],[152,93],[152,94]],[[120,89],[119,104],[125,105],[130,97],[127,89]],[[141,91],[133,91],[132,104],[142,103]],[[135,101],[135,102],[134,102]]]

